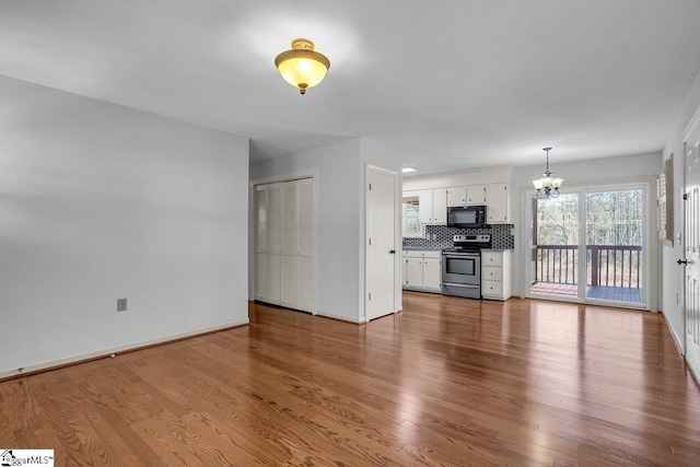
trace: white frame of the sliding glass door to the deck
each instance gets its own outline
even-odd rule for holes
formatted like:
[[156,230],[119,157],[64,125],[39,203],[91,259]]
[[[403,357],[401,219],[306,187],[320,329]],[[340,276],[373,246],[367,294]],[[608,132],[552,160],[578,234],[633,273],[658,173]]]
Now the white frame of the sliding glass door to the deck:
[[[642,303],[620,302],[600,299],[586,297],[587,287],[587,233],[586,233],[586,195],[600,191],[619,191],[623,189],[641,189],[642,202],[643,202],[643,236],[642,236]],[[657,235],[656,235],[656,212],[653,209],[655,203],[652,202],[656,199],[656,179],[654,177],[638,177],[634,179],[616,180],[615,183],[587,183],[587,184],[570,184],[568,189],[562,190],[562,194],[579,195],[579,283],[576,296],[561,296],[561,295],[547,295],[541,293],[532,292],[533,283],[533,268],[532,265],[532,247],[533,247],[533,202],[535,197],[535,189],[523,188],[522,189],[522,217],[521,217],[521,232],[522,232],[522,250],[521,256],[521,296],[527,299],[544,299],[560,302],[570,303],[590,303],[596,305],[610,305],[616,307],[634,308],[634,310],[649,310],[656,311],[656,294],[657,294]]]

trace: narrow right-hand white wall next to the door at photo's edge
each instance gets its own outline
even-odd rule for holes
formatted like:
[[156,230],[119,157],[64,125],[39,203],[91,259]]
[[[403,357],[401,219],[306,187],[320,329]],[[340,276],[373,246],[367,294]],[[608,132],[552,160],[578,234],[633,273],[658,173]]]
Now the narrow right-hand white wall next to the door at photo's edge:
[[[684,201],[682,201],[682,180],[684,180],[684,144],[682,132],[690,122],[696,110],[700,106],[700,73],[696,77],[695,82],[690,86],[688,95],[684,101],[682,107],[678,113],[673,130],[664,147],[663,156],[667,159],[669,154],[674,155],[674,232],[681,234],[684,232]],[[684,268],[678,266],[676,261],[685,257],[684,245],[674,242],[674,246],[662,247],[663,256],[663,302],[662,310],[668,322],[676,340],[684,348],[684,315],[682,315],[682,283]]]

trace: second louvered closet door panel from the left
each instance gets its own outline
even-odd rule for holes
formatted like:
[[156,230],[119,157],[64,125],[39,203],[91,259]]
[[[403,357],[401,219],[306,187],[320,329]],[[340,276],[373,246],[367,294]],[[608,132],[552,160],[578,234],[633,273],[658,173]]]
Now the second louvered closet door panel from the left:
[[282,186],[267,189],[267,295],[265,301],[276,305],[282,297]]

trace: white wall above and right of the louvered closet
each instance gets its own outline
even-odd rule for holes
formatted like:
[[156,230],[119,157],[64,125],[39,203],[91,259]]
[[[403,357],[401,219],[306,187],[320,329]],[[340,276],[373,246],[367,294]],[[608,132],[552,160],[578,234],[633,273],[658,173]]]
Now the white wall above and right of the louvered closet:
[[360,140],[250,165],[250,179],[318,173],[318,314],[360,320]]

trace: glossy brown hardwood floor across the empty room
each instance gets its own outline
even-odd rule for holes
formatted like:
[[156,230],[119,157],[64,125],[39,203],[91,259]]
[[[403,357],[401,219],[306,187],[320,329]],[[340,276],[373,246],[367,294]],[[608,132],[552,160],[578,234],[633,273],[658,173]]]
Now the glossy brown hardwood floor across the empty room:
[[0,383],[0,447],[70,465],[697,466],[658,314],[405,293],[364,326],[250,326]]

